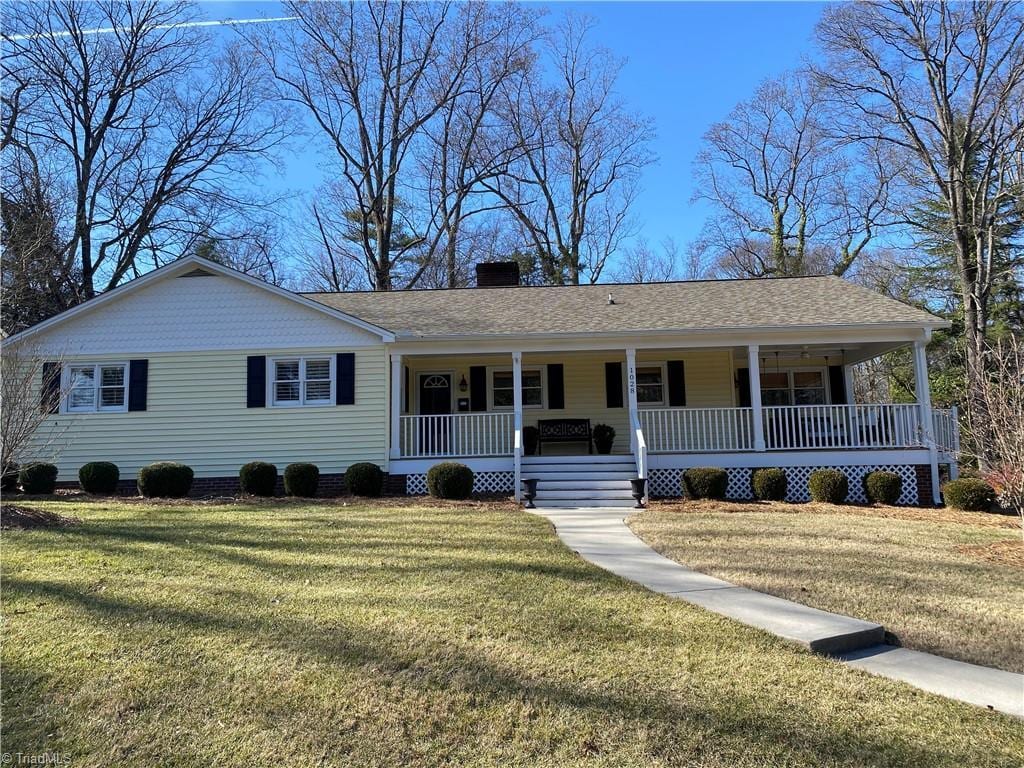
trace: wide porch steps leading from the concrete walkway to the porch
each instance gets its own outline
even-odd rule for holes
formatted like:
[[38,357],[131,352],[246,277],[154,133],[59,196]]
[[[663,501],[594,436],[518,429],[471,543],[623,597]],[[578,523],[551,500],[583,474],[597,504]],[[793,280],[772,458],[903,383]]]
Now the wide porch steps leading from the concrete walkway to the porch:
[[634,505],[631,456],[528,456],[522,460],[522,477],[537,480],[534,503],[542,509]]

